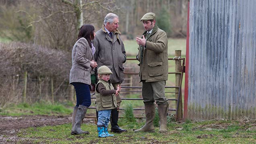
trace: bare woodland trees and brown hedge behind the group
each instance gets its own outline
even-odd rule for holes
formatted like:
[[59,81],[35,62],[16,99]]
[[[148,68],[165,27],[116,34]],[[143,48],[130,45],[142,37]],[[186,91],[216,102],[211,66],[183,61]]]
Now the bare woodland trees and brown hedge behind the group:
[[72,46],[81,25],[92,24],[98,31],[105,15],[113,12],[119,16],[122,39],[133,40],[144,31],[140,18],[154,12],[169,38],[185,38],[187,4],[187,0],[0,0],[0,107],[74,101],[68,81]]

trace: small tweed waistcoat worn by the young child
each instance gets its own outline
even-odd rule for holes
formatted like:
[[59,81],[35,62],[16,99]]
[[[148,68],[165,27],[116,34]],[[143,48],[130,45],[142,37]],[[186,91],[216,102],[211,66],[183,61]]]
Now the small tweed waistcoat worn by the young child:
[[105,87],[106,90],[114,90],[113,85],[111,84],[111,81],[109,80],[108,82],[104,80],[99,80],[99,82],[96,84],[96,109],[97,111],[104,110],[104,109],[116,109],[117,108],[117,102],[116,102],[116,95],[111,94],[111,95],[101,95],[97,91],[97,86],[99,83],[102,83]]

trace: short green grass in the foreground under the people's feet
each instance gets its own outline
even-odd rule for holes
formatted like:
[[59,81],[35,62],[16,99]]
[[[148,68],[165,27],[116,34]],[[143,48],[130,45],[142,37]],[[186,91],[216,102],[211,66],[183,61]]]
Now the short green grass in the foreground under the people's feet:
[[[120,119],[120,121],[124,121]],[[136,122],[122,123],[122,128],[128,129],[128,132],[115,134],[114,137],[98,138],[97,127],[95,124],[83,124],[82,129],[90,132],[89,135],[70,135],[71,124],[44,126],[38,128],[28,128],[19,133],[19,137],[23,138],[22,142],[32,143],[51,143],[51,144],[74,144],[74,143],[132,143],[132,144],[219,144],[219,143],[255,143],[256,132],[247,132],[245,125],[238,125],[233,121],[203,121],[203,122],[186,122],[186,123],[171,123],[168,125],[168,133],[158,133],[159,128],[156,128],[155,133],[138,132],[134,133],[133,129],[138,129],[144,125],[144,120],[137,119]],[[211,123],[211,124],[209,124]],[[203,128],[206,125],[223,125],[224,130],[207,131]],[[178,130],[177,128],[183,128]]]

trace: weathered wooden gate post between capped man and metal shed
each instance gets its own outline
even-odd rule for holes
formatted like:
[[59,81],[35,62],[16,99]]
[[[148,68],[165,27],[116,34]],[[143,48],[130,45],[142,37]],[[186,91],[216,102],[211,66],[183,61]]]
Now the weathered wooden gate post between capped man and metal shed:
[[[175,50],[175,57],[181,57],[181,50]],[[180,60],[175,60],[175,72],[182,72],[182,65]],[[181,77],[181,74],[175,74],[175,86],[180,86],[180,77]],[[178,93],[179,93],[179,88],[175,88],[176,99],[178,99]],[[178,101],[175,102],[176,109],[177,109],[177,103]],[[183,115],[182,114],[182,93],[180,93],[179,109],[176,115],[176,120],[182,121],[182,115]]]

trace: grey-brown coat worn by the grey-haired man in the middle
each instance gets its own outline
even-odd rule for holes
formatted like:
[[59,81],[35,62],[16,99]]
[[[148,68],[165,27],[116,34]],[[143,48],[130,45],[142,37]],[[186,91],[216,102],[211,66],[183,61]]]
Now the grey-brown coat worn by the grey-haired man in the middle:
[[[95,47],[95,61],[99,68],[100,66],[107,66],[113,74],[110,75],[110,80],[113,83],[122,83],[124,80],[123,63],[126,61],[126,52],[124,43],[120,37],[118,29],[114,31],[113,38],[108,35],[107,31],[102,29],[96,32],[93,45]],[[96,72],[97,72],[96,68]]]

